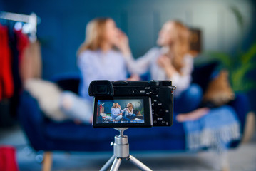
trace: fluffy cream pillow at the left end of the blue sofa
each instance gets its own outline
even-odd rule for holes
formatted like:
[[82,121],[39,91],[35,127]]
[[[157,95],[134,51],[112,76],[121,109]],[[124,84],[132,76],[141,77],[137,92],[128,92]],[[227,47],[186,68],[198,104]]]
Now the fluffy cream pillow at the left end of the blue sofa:
[[68,119],[61,112],[60,98],[62,90],[55,83],[41,79],[29,79],[24,83],[27,90],[39,103],[39,107],[48,118],[56,121]]

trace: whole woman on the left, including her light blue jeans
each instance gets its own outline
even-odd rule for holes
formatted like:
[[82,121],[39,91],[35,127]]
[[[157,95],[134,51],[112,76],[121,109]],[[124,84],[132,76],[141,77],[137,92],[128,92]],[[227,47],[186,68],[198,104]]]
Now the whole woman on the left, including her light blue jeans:
[[78,68],[81,71],[79,93],[65,92],[61,109],[66,115],[91,123],[92,103],[88,86],[93,80],[126,80],[126,62],[119,46],[121,31],[110,18],[93,19],[86,26],[86,39],[78,49]]

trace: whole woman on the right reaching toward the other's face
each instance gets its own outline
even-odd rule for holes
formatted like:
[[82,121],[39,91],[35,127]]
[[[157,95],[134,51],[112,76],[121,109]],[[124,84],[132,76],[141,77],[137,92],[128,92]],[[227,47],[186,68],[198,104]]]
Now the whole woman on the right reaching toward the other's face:
[[[128,46],[128,38],[122,36],[121,51],[125,54],[130,73],[143,74],[150,71],[153,80],[170,80],[176,86],[174,111],[188,113],[200,104],[202,90],[191,84],[193,56],[190,55],[190,31],[180,21],[167,21],[158,35],[158,46],[151,48],[144,56],[134,60]],[[199,117],[208,108],[195,110]]]

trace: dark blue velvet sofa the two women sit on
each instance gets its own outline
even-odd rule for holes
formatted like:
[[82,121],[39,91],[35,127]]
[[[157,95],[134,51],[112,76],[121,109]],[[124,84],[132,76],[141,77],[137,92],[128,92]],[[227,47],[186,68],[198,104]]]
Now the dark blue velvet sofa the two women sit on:
[[[205,90],[214,65],[195,68],[193,82]],[[63,75],[54,78],[63,90],[78,91],[79,77]],[[235,109],[241,123],[241,133],[245,128],[245,118],[249,111],[246,95],[237,94],[235,100],[228,104]],[[21,94],[19,104],[19,120],[27,138],[34,150],[43,151],[106,151],[113,150],[113,141],[117,130],[113,128],[93,129],[91,125],[76,125],[73,121],[56,123],[46,118],[39,104],[28,92]],[[186,150],[185,131],[183,124],[174,119],[173,126],[154,128],[130,128],[125,131],[128,135],[130,150]],[[232,142],[230,147],[237,147],[240,140]]]

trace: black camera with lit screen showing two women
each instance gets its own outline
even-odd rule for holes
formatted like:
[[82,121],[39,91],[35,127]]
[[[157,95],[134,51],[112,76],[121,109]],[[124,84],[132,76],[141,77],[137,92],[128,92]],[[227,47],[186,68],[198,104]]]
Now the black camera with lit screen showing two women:
[[171,81],[92,81],[93,128],[171,126],[173,90]]

